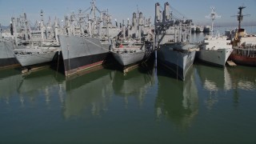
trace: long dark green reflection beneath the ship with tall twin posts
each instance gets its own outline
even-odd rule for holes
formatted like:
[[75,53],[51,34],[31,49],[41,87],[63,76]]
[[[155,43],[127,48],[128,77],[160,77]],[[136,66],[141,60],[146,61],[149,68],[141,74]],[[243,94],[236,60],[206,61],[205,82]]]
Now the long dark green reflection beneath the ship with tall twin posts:
[[158,70],[158,97],[155,111],[158,121],[168,118],[186,130],[198,114],[198,90],[194,80],[194,66],[191,67],[184,82],[166,76]]

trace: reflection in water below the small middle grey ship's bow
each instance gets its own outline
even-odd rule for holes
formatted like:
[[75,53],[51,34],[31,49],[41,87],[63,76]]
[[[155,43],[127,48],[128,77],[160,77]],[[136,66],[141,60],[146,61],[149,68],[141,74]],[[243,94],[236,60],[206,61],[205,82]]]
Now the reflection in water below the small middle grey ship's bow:
[[128,98],[133,96],[138,100],[139,106],[142,106],[148,88],[154,83],[153,72],[154,70],[152,69],[147,73],[143,73],[140,69],[135,69],[124,75],[120,71],[115,71],[113,81],[114,94],[124,98],[126,107],[129,101]]

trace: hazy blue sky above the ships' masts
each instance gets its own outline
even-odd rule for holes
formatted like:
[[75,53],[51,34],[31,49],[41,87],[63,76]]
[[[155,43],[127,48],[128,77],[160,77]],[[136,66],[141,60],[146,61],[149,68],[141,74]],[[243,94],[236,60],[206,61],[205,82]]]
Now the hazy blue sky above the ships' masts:
[[[78,13],[79,9],[86,10],[90,7],[91,0],[0,0],[0,23],[2,26],[10,25],[11,17],[18,17],[26,13],[31,22],[40,20],[40,11],[44,11],[44,18],[64,19],[65,14],[73,11]],[[210,25],[210,19],[206,15],[210,14],[210,6],[214,6],[215,11],[222,18],[214,22],[217,26],[238,25],[236,17],[238,6],[246,6],[243,14],[250,14],[244,17],[243,25],[256,25],[256,0],[95,0],[99,10],[108,10],[112,15],[112,20],[132,18],[132,14],[142,11],[146,18],[151,18],[154,23],[154,4],[159,2],[163,7],[164,2],[169,2],[170,6],[183,14],[185,18],[193,20],[194,24]]]

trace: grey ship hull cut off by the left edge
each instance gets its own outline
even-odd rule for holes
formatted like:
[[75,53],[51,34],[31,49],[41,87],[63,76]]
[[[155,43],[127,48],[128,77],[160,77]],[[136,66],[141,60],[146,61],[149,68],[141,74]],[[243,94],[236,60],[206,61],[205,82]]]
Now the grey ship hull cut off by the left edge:
[[14,57],[14,43],[10,41],[0,41],[0,68],[18,66],[18,61]]

